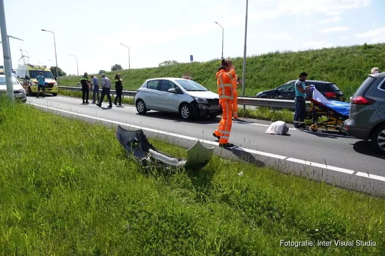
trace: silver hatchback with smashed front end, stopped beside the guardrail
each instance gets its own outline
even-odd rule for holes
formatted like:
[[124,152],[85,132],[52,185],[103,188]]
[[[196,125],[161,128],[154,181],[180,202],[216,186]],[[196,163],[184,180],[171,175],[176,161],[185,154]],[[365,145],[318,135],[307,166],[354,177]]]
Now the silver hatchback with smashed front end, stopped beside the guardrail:
[[184,120],[222,115],[218,94],[183,78],[147,79],[137,90],[134,102],[139,114],[150,110],[174,112]]

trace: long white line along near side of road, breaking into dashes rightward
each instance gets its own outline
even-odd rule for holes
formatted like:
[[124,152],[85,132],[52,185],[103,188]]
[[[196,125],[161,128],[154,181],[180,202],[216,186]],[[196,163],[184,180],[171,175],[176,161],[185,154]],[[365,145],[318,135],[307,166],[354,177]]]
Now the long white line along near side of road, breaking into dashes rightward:
[[[71,114],[71,115],[82,116],[82,117],[91,118],[91,119],[95,119],[95,120],[99,120],[99,121],[115,123],[115,124],[119,124],[119,125],[123,125],[123,126],[128,126],[128,127],[132,127],[132,128],[136,128],[136,129],[142,129],[142,130],[145,130],[145,131],[150,131],[150,132],[154,132],[154,133],[164,134],[164,135],[173,136],[173,137],[177,137],[177,138],[183,138],[183,139],[193,140],[193,141],[200,140],[198,138],[193,138],[193,137],[189,137],[189,136],[179,135],[179,134],[175,134],[175,133],[169,133],[169,132],[159,131],[159,130],[150,129],[150,128],[146,128],[146,127],[141,127],[141,126],[137,126],[137,125],[132,125],[132,124],[122,123],[122,122],[118,122],[118,121],[108,120],[108,119],[104,119],[104,118],[93,117],[93,116],[84,115],[84,114],[75,113],[75,112],[70,112],[70,111],[61,110],[61,109],[55,109],[55,108],[51,108],[49,106],[44,106],[44,105],[35,104],[35,103],[31,103],[31,102],[27,102],[27,103],[31,104],[31,105],[35,105],[35,106],[40,106],[42,108],[46,108],[46,109],[50,109],[50,110],[54,110],[54,111],[59,111],[59,112]],[[200,141],[203,142],[203,143],[211,144],[211,145],[218,145],[218,142],[214,142],[214,141],[209,141],[209,140],[200,140]],[[304,160],[300,160],[300,159],[296,159],[296,158],[287,158],[285,156],[275,155],[275,154],[266,153],[266,152],[260,152],[260,151],[256,151],[256,150],[250,150],[248,148],[234,147],[233,150],[244,151],[244,152],[248,152],[248,153],[252,153],[252,154],[256,154],[256,155],[272,157],[272,158],[276,158],[276,159],[281,159],[281,160],[285,160],[285,161],[300,163],[300,164],[304,164],[304,165],[315,166],[315,167],[324,168],[324,169],[328,169],[328,170],[334,170],[336,172],[346,173],[346,174],[350,174],[350,175],[355,173],[354,170],[349,170],[349,169],[344,169],[344,168],[335,167],[335,166],[331,166],[331,165],[325,165],[325,164],[320,164],[320,163],[304,161]],[[385,177],[382,177],[382,176],[377,176],[377,175],[370,175],[369,176],[368,174],[360,173],[360,172],[358,172],[356,175],[357,176],[361,176],[361,177],[367,177],[367,178],[372,178],[372,179],[377,179],[377,180],[385,181]]]

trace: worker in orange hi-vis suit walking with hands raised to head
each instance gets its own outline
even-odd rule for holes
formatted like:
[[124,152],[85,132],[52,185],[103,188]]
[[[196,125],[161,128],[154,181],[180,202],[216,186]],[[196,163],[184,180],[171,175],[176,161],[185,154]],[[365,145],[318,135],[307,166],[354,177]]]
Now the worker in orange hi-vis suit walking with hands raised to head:
[[216,76],[219,104],[222,106],[222,120],[218,125],[218,129],[213,133],[213,136],[219,139],[220,147],[233,147],[234,144],[228,143],[233,118],[234,94],[232,79],[236,76],[233,61],[222,59]]

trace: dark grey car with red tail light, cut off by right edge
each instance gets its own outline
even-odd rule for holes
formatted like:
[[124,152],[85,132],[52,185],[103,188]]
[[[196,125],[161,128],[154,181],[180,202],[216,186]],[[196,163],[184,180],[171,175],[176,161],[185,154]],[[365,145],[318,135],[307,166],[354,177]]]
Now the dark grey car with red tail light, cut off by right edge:
[[343,130],[358,139],[370,139],[374,148],[385,154],[385,72],[363,81],[350,101]]

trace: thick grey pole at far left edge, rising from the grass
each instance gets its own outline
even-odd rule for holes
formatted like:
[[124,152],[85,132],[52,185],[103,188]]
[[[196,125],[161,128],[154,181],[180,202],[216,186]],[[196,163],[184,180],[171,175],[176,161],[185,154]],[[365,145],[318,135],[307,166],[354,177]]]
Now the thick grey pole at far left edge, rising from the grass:
[[15,101],[15,96],[13,95],[13,84],[12,84],[12,66],[10,59],[9,51],[9,42],[7,40],[7,25],[5,23],[5,10],[4,10],[4,0],[0,0],[0,30],[2,35],[3,44],[3,56],[4,56],[4,69],[5,69],[5,82],[7,84],[7,94],[12,102]]

